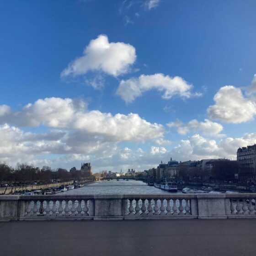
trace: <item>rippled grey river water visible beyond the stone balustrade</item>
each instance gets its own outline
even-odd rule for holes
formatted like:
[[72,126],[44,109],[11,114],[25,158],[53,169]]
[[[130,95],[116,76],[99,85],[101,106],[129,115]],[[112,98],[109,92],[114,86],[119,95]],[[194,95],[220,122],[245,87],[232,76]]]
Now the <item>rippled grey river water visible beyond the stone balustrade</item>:
[[[170,194],[142,181],[96,181],[85,187],[71,189],[59,194],[67,195],[115,195],[115,194]],[[181,192],[177,192],[181,193]]]

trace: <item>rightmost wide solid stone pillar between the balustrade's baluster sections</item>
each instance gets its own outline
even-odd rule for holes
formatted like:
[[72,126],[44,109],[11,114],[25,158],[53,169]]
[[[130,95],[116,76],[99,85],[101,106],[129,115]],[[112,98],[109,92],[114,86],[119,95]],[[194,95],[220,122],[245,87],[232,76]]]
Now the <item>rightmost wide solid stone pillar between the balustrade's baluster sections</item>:
[[198,219],[227,219],[224,194],[197,194]]

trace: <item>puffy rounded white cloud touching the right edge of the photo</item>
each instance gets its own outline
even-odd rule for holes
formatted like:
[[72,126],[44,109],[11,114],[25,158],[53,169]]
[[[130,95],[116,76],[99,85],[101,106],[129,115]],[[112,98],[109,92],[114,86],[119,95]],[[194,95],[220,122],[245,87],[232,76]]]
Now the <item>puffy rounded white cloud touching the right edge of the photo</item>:
[[255,101],[245,98],[240,88],[232,85],[221,87],[215,94],[215,104],[208,107],[208,116],[226,123],[245,123],[256,115]]

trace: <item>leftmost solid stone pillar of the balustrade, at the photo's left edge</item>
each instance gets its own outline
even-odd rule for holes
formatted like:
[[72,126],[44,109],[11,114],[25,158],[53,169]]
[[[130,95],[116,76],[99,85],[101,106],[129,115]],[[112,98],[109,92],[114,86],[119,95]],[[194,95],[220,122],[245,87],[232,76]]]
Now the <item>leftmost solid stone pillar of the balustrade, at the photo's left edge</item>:
[[0,196],[0,221],[17,220],[19,196]]

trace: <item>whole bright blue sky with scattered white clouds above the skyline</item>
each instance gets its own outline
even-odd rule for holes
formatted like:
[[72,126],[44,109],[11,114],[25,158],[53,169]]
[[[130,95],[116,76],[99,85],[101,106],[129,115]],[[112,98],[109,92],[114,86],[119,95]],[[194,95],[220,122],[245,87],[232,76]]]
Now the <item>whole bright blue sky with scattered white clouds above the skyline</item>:
[[255,8],[1,1],[0,161],[143,171],[234,159],[256,143]]

